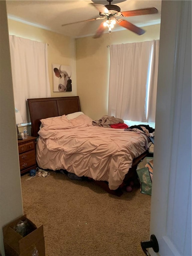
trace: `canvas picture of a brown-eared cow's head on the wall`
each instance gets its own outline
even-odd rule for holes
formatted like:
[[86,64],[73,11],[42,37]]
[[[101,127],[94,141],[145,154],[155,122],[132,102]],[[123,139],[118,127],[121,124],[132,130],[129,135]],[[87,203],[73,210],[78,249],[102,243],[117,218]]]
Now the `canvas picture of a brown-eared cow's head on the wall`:
[[72,92],[71,67],[52,64],[53,92]]

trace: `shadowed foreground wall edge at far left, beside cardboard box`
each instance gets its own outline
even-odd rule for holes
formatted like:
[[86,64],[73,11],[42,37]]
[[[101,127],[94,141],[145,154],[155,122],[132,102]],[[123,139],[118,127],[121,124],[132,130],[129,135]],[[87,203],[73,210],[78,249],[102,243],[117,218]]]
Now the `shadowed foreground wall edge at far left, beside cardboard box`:
[[0,38],[0,251],[4,256],[2,227],[23,215],[5,1],[0,1]]

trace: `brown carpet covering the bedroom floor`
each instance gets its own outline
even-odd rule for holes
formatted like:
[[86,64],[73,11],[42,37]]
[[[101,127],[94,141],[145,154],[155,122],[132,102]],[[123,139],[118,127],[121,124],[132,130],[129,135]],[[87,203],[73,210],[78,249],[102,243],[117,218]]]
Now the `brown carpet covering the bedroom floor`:
[[138,187],[116,197],[61,173],[28,177],[21,176],[23,210],[44,225],[46,256],[143,256],[151,196]]

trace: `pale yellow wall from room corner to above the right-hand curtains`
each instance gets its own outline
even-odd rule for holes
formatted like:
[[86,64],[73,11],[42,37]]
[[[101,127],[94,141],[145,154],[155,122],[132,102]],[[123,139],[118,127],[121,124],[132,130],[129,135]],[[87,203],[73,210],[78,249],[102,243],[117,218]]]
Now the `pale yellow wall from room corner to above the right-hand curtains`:
[[108,114],[108,83],[111,44],[157,40],[160,36],[160,24],[143,27],[146,33],[138,36],[128,30],[112,32],[101,38],[90,37],[76,39],[77,95],[81,110],[92,119],[100,119]]

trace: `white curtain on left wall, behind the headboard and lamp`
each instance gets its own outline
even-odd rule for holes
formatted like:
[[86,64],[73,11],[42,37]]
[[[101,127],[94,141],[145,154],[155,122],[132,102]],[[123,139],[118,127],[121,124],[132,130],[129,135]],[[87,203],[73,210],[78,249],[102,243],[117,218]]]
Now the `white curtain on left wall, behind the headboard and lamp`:
[[27,123],[26,100],[51,97],[47,44],[9,36],[15,107]]

